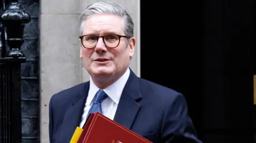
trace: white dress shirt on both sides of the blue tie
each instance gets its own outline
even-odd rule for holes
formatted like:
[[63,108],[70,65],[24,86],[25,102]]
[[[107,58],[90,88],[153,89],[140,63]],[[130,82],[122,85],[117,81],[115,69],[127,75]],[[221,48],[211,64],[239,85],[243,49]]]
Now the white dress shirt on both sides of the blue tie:
[[[120,77],[116,82],[107,88],[103,89],[106,92],[108,97],[101,102],[102,114],[107,116],[109,119],[113,120],[116,114],[116,109],[119,103],[119,99],[123,92],[124,86],[129,78],[130,69],[127,68],[126,72]],[[93,104],[96,92],[99,90],[97,86],[93,83],[90,77],[90,89],[88,92],[88,97],[86,99],[84,113],[82,115],[82,121],[79,125],[80,128],[83,128],[86,121],[87,114]]]

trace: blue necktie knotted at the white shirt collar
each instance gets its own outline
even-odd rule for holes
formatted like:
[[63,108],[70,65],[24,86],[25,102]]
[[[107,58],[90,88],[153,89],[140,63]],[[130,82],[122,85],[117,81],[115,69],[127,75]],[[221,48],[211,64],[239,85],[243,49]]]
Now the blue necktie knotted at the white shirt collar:
[[102,114],[102,109],[101,109],[101,102],[102,100],[104,100],[105,98],[108,97],[108,95],[103,91],[103,90],[99,90],[97,91],[96,95],[95,95],[95,99],[93,102],[92,107],[90,108],[86,119],[88,118],[88,116],[90,115],[90,113],[95,113],[95,112],[99,112]]

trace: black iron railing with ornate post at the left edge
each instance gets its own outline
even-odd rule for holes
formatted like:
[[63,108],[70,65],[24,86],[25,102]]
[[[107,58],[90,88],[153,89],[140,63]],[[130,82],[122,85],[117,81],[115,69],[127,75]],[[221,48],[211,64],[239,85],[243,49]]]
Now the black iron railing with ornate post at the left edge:
[[0,14],[1,56],[0,56],[0,100],[1,131],[0,143],[21,143],[21,63],[26,62],[20,50],[24,43],[25,24],[30,15],[18,2],[2,1]]

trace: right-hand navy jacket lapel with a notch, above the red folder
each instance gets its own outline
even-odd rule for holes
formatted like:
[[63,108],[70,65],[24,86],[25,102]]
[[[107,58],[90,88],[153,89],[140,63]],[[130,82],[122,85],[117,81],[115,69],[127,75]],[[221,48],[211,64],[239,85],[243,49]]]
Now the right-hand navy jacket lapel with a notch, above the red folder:
[[138,100],[141,98],[139,79],[130,69],[130,76],[126,82],[122,92],[114,121],[131,129],[135,117],[139,111],[140,104]]

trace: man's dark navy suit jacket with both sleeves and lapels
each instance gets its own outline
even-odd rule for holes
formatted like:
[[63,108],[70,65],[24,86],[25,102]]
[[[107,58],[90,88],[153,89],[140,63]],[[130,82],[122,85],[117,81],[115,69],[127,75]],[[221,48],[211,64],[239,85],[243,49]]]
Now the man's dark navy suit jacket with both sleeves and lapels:
[[[51,143],[69,143],[83,114],[89,82],[53,95],[50,100]],[[153,142],[199,143],[183,95],[138,78],[132,71],[114,121]]]

